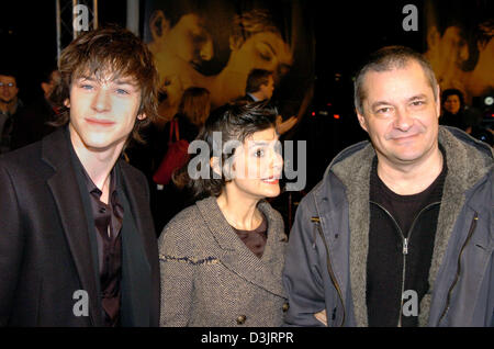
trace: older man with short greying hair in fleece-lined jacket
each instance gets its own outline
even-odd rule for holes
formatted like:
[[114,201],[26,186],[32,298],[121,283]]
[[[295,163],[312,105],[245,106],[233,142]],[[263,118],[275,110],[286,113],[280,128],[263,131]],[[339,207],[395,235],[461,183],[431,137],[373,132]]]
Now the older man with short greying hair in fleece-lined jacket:
[[430,64],[403,46],[355,80],[370,142],[343,150],[299,205],[288,325],[493,326],[494,153],[439,126]]

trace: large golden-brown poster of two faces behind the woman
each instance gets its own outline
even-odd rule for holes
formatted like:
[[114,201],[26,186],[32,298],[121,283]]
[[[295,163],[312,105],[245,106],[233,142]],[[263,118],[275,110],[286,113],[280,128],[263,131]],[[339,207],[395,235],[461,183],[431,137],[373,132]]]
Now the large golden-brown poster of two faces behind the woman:
[[274,72],[283,115],[302,114],[315,58],[307,9],[303,0],[147,0],[144,40],[159,70],[160,115],[173,116],[189,87],[206,88],[213,109],[242,97],[255,68]]

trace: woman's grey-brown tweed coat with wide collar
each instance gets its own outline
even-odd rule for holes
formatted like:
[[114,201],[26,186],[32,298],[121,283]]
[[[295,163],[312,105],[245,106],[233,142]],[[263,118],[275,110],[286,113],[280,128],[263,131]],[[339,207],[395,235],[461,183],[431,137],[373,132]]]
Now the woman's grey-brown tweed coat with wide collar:
[[215,198],[183,210],[159,238],[161,326],[281,326],[287,236],[281,215],[261,201],[268,221],[262,258],[223,216]]

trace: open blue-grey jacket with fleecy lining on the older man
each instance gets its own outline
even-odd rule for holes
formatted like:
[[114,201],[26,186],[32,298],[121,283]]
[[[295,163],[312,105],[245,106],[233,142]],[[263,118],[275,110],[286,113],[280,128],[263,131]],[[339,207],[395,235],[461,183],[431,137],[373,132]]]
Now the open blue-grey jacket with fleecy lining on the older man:
[[[439,128],[448,174],[438,217],[430,289],[420,326],[494,325],[493,150],[465,133]],[[303,199],[290,234],[283,283],[285,322],[368,326],[366,304],[372,145],[343,150]]]

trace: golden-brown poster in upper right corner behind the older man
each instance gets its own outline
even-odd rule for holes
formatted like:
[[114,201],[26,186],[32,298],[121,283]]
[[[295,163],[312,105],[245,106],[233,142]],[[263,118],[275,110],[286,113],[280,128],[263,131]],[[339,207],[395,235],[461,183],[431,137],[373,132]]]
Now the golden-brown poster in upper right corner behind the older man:
[[475,106],[494,92],[494,2],[425,1],[426,57],[441,90],[454,88]]

